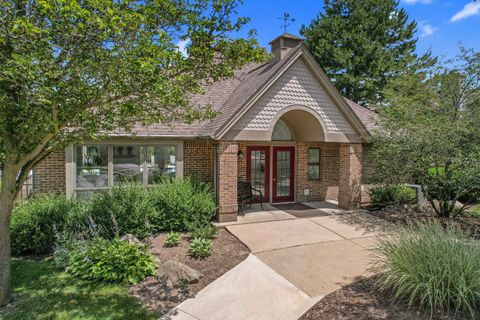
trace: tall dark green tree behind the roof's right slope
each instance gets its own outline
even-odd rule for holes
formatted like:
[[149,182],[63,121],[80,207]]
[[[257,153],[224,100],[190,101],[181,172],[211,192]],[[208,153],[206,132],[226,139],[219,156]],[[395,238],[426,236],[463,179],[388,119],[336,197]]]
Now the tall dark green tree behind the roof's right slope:
[[[382,100],[388,80],[416,69],[417,24],[396,0],[326,0],[324,11],[300,33],[317,62],[347,98]],[[422,64],[431,63],[429,53]]]

